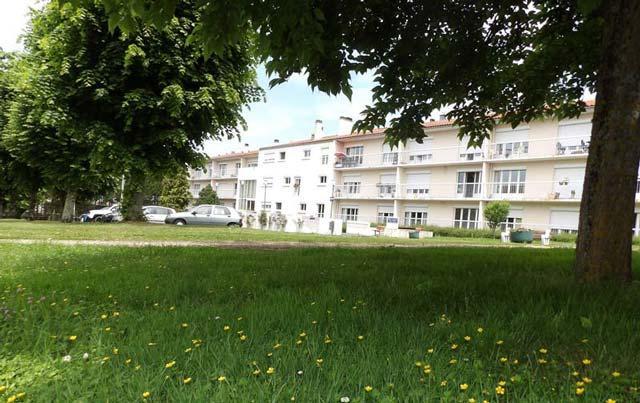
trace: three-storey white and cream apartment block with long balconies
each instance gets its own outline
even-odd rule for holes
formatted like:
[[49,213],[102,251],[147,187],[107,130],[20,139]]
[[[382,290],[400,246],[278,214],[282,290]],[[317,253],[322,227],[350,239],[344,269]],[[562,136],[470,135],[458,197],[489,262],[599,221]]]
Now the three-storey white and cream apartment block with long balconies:
[[507,200],[504,227],[576,232],[592,107],[578,119],[498,126],[482,147],[469,147],[447,120],[426,122],[422,142],[393,149],[384,129],[333,136],[316,129],[312,138],[261,148],[257,168],[240,170],[236,207],[289,219],[394,217],[403,226],[482,228],[487,203]]

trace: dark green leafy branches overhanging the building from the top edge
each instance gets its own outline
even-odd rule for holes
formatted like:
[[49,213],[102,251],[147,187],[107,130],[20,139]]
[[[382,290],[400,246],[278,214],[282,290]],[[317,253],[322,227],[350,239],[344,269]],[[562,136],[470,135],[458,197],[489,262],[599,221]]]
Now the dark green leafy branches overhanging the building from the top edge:
[[[579,99],[593,92],[599,60],[600,3],[200,0],[189,38],[212,55],[254,37],[272,85],[306,72],[312,88],[350,96],[351,74],[372,70],[373,104],[358,129],[393,116],[392,142],[421,138],[423,119],[452,105],[448,117],[480,143],[496,116],[515,126],[584,110]],[[102,4],[110,29],[124,32],[169,24],[177,7],[175,0]]]

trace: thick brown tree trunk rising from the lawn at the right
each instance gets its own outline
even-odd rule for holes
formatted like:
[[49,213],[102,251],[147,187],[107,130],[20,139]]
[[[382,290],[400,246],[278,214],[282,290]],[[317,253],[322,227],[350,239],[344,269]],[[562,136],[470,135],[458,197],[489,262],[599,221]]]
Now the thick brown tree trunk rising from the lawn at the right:
[[605,28],[576,250],[581,281],[631,280],[640,161],[640,1],[603,2]]

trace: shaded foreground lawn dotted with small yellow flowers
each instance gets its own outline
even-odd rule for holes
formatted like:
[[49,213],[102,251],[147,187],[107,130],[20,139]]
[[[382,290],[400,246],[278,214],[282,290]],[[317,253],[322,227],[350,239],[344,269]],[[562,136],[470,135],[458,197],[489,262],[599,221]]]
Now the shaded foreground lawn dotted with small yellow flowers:
[[572,260],[562,249],[4,244],[1,393],[639,401],[640,285],[578,286]]

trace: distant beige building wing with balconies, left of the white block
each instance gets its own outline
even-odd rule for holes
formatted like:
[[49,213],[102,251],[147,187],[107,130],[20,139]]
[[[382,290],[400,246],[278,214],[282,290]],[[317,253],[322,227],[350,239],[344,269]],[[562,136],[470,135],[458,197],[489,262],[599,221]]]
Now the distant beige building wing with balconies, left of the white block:
[[205,169],[191,169],[190,191],[194,199],[200,191],[211,185],[221,204],[235,207],[238,196],[238,175],[242,168],[258,166],[258,151],[234,152],[211,158]]

